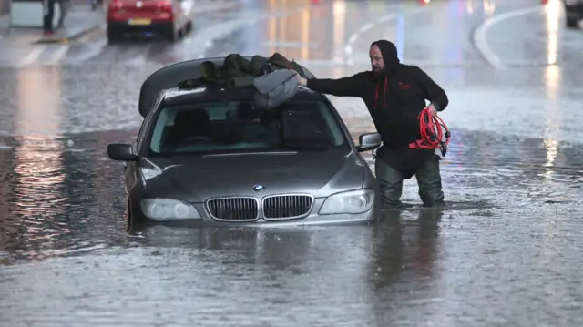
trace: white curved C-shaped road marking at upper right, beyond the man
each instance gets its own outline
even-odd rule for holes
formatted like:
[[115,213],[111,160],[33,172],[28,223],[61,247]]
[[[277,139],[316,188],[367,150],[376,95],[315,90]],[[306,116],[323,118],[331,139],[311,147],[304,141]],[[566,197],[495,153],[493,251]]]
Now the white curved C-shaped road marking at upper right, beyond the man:
[[502,62],[502,59],[500,59],[500,57],[497,56],[494,51],[492,51],[490,46],[488,46],[486,41],[488,30],[492,28],[492,26],[495,26],[496,24],[499,24],[506,19],[514,18],[520,15],[537,13],[543,9],[544,6],[537,5],[525,9],[513,10],[501,15],[495,15],[494,17],[486,20],[484,23],[482,23],[482,25],[476,28],[476,31],[474,31],[474,44],[476,45],[477,50],[482,54],[482,56],[484,56],[490,65],[494,66],[496,69],[505,69],[506,65]]

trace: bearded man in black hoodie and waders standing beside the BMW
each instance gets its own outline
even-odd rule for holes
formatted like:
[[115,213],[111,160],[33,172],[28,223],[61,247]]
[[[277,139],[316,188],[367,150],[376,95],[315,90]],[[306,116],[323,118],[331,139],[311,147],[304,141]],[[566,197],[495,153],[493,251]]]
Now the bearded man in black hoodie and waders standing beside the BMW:
[[434,149],[409,148],[409,144],[421,138],[419,114],[426,107],[425,99],[431,102],[428,107],[435,116],[447,107],[447,95],[421,68],[401,64],[392,42],[373,42],[369,56],[372,71],[339,79],[299,77],[300,85],[336,97],[363,99],[383,139],[374,168],[384,207],[403,208],[403,180],[413,175],[424,207],[441,207],[440,158]]

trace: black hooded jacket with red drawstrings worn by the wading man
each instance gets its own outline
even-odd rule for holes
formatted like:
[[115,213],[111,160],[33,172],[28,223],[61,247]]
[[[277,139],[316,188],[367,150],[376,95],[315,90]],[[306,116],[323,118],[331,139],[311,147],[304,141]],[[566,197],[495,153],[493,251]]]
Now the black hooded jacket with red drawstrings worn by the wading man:
[[[364,71],[339,79],[312,78],[308,79],[306,87],[336,97],[362,98],[383,139],[384,147],[379,149],[379,157],[385,158],[394,169],[408,170],[404,174],[410,175],[424,159],[434,154],[434,150],[408,148],[410,143],[421,138],[418,118],[426,107],[425,99],[434,104],[437,111],[444,110],[449,101],[445,91],[421,68],[400,63],[392,42],[379,40],[373,45],[378,46],[383,55],[381,76]],[[384,156],[383,152],[391,153]]]

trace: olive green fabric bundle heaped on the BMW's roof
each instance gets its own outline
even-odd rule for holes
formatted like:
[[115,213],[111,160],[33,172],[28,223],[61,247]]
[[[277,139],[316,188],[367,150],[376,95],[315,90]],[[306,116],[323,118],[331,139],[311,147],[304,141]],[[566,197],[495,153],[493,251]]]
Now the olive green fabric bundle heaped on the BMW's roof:
[[202,62],[200,64],[201,77],[183,81],[178,87],[192,88],[208,85],[225,88],[248,87],[253,85],[255,77],[279,69],[293,69],[302,77],[306,77],[302,66],[277,52],[268,59],[263,56],[252,56],[251,60],[239,54],[230,54],[225,57],[222,65],[215,65],[211,61]]

